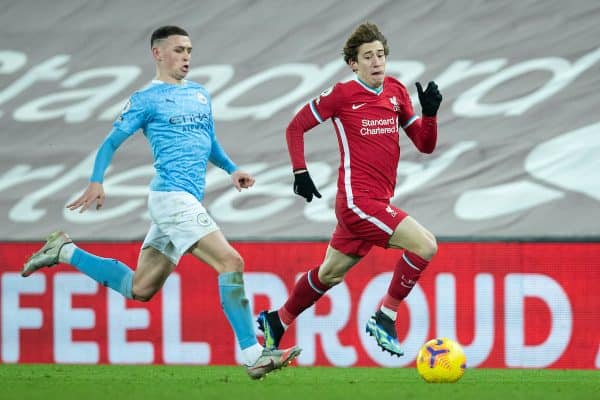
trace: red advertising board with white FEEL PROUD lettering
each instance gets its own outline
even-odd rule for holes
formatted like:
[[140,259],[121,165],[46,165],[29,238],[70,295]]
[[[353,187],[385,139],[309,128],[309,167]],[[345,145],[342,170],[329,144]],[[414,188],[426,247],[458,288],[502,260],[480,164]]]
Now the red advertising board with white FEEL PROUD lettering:
[[[124,300],[74,268],[20,276],[40,243],[0,244],[2,363],[238,364],[217,274],[186,256],[147,303]],[[134,266],[140,243],[81,243]],[[234,243],[254,314],[283,304],[327,243]],[[600,369],[600,244],[441,243],[398,314],[402,358],[364,332],[397,250],[374,249],[304,312],[282,345],[300,365],[411,366],[433,337],[461,343],[470,367]]]

